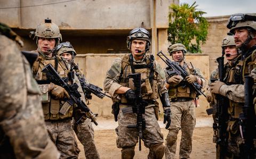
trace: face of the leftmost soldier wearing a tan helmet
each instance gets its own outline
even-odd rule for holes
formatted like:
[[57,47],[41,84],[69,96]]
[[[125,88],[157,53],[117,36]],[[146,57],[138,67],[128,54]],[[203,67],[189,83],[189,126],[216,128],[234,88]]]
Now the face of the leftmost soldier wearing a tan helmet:
[[38,48],[44,53],[44,54],[50,54],[52,49],[55,46],[55,39],[53,38],[41,38],[38,37]]

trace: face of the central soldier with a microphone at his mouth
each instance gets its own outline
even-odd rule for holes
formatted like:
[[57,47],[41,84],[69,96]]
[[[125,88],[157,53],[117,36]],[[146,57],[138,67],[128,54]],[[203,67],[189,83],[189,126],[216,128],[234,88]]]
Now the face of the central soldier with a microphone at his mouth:
[[131,52],[135,59],[142,58],[143,54],[145,53],[146,43],[146,40],[132,40]]

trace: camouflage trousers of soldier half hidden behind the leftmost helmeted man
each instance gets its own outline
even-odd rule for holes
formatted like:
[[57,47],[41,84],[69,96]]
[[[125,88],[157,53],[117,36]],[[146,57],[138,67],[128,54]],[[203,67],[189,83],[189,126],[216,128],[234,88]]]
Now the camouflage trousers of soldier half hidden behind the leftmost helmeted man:
[[100,158],[98,150],[94,143],[94,130],[90,119],[86,119],[83,123],[75,124],[75,133],[78,140],[84,146],[84,153],[87,159]]

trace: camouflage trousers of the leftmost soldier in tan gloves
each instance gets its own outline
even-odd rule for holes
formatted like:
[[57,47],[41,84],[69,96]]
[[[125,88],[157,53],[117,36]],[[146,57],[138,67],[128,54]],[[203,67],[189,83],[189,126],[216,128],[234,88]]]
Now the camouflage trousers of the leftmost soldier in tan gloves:
[[80,150],[70,119],[46,120],[45,123],[51,140],[61,153],[60,158],[77,158]]

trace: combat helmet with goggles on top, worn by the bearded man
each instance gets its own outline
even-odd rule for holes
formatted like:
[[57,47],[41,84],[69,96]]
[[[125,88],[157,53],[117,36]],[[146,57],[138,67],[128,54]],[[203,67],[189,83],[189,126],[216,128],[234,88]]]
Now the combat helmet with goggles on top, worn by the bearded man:
[[256,30],[256,14],[255,13],[237,13],[230,16],[227,28],[234,34],[236,28],[251,28]]

